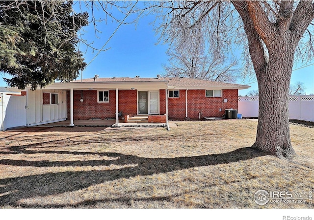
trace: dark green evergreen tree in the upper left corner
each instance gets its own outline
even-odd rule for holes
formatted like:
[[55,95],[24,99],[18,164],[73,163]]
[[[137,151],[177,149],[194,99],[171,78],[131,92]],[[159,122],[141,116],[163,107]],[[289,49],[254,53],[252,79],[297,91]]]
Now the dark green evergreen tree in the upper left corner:
[[87,13],[74,13],[72,1],[1,1],[0,71],[10,87],[31,89],[76,79],[86,63],[77,31]]

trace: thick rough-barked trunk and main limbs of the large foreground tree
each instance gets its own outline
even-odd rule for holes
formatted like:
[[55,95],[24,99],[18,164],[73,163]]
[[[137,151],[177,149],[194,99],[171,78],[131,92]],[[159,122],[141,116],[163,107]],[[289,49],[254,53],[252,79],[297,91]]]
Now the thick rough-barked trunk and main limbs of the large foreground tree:
[[281,1],[276,22],[271,21],[260,1],[232,3],[243,21],[259,84],[259,123],[253,147],[292,159],[289,84],[294,51],[314,19],[314,3],[300,1],[293,11],[292,1]]

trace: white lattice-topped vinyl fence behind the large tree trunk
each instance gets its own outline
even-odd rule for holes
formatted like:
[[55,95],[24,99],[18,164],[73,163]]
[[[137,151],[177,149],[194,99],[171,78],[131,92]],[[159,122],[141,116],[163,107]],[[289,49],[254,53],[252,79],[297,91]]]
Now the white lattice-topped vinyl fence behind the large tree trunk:
[[[259,117],[259,97],[238,97],[242,117]],[[314,95],[289,96],[289,118],[314,122]]]

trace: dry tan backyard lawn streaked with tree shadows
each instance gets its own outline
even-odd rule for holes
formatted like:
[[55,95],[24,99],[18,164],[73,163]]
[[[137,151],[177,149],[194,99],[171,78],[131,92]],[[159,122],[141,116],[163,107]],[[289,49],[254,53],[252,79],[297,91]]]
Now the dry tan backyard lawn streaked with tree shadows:
[[1,208],[314,208],[257,205],[257,190],[314,188],[314,128],[290,125],[297,156],[250,146],[257,121],[177,128],[28,128],[0,132]]

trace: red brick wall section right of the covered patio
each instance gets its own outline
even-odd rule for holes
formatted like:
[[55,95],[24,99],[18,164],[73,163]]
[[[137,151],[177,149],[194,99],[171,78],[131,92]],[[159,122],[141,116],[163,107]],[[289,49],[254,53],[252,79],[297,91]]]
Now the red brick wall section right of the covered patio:
[[[201,117],[221,117],[225,109],[238,108],[237,97],[237,89],[223,89],[222,97],[205,97],[205,89],[188,90],[187,116],[198,118],[198,113],[202,111]],[[224,103],[224,99],[228,102]],[[168,115],[169,118],[185,117],[185,90],[180,90],[179,98],[168,98]]]

